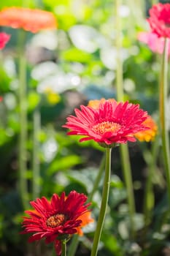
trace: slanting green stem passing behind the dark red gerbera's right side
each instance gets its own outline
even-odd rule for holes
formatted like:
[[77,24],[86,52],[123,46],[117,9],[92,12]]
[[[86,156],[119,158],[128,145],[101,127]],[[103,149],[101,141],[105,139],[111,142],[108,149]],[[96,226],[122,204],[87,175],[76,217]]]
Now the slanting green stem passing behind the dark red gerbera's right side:
[[[100,183],[101,177],[103,176],[103,173],[104,173],[104,165],[105,165],[105,154],[101,159],[98,175],[96,176],[96,180],[94,181],[93,189],[90,192],[90,195],[88,196],[88,202],[91,202],[93,200],[93,195],[98,190],[98,184]],[[72,238],[72,243],[69,246],[68,256],[75,255],[78,244],[79,244],[79,236],[75,234]]]

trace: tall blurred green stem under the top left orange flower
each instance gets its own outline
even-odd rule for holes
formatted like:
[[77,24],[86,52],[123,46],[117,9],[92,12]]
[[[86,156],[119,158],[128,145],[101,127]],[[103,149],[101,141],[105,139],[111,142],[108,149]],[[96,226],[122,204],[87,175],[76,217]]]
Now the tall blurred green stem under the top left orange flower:
[[28,208],[27,190],[27,98],[26,98],[26,56],[24,43],[26,32],[20,30],[19,44],[19,113],[20,113],[20,138],[19,138],[19,192],[23,208]]

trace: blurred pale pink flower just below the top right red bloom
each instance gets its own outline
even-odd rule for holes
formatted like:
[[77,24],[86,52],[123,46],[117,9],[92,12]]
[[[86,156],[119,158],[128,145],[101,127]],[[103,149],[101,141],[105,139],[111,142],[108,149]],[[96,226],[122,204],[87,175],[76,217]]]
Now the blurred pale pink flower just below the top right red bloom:
[[[165,39],[158,37],[157,34],[151,32],[140,32],[138,37],[140,42],[147,44],[153,53],[163,53]],[[170,55],[170,42],[168,41],[168,54]]]

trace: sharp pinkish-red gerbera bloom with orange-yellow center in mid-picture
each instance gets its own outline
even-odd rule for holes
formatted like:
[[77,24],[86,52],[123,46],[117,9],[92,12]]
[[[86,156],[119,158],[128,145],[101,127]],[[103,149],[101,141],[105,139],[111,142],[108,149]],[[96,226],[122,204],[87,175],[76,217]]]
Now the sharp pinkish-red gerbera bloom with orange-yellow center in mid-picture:
[[136,132],[148,129],[143,121],[147,112],[139,105],[115,100],[102,100],[98,108],[80,106],[75,109],[76,116],[69,116],[63,127],[71,129],[68,135],[83,135],[80,139],[95,140],[101,146],[112,146],[115,143],[136,141]]

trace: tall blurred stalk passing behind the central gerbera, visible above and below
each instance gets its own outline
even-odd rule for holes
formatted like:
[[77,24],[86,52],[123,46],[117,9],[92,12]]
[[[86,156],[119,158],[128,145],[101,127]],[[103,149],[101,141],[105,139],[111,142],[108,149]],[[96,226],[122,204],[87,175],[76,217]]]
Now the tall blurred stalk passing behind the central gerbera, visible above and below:
[[[121,26],[120,26],[120,1],[115,1],[116,9],[116,48],[117,48],[117,70],[116,70],[116,89],[117,89],[117,101],[123,101],[123,64],[120,58],[122,42],[121,42]],[[125,179],[125,187],[127,189],[128,197],[128,209],[131,220],[131,238],[134,238],[134,215],[135,215],[135,200],[134,200],[134,189],[131,177],[131,163],[128,154],[128,145],[120,145],[120,157],[121,164],[123,167],[123,176]]]

